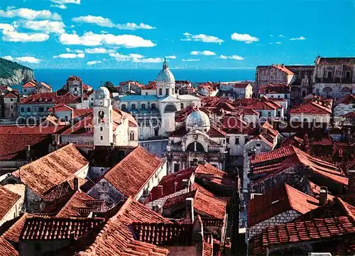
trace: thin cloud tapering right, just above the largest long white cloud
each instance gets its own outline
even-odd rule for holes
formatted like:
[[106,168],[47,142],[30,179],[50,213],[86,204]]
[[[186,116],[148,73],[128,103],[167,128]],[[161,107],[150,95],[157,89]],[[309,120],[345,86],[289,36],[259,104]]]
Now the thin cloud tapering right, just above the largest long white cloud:
[[107,28],[118,28],[124,30],[137,30],[137,29],[154,29],[155,27],[150,26],[144,23],[124,23],[124,24],[114,24],[109,18],[104,18],[102,16],[80,16],[72,18],[72,21],[80,23],[93,23],[98,26],[107,27]]

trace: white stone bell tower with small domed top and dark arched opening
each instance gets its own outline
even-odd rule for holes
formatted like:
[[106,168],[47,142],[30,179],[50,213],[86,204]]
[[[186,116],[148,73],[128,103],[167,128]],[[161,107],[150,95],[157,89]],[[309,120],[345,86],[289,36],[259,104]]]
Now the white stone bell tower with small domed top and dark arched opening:
[[112,105],[109,89],[97,89],[94,100],[94,145],[109,146],[114,142]]

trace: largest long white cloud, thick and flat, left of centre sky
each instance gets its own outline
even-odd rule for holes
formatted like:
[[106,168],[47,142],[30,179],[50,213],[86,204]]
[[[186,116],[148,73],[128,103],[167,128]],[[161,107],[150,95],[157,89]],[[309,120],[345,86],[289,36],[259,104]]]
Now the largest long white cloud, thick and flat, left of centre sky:
[[95,34],[92,32],[84,33],[80,36],[76,33],[63,33],[59,37],[60,43],[63,45],[119,45],[126,48],[153,47],[155,43],[146,40],[137,35],[112,35],[112,34]]

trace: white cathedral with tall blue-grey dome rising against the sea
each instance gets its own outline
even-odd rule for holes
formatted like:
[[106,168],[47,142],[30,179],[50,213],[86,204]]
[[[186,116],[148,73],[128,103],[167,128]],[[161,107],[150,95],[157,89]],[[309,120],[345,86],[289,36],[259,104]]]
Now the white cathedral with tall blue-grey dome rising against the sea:
[[[131,113],[138,121],[138,139],[147,150],[160,147],[149,141],[175,130],[175,113],[187,106],[200,107],[201,99],[190,94],[179,95],[175,91],[175,77],[166,60],[158,73],[154,86],[141,89],[141,94],[119,95],[114,98],[114,107]],[[166,140],[165,140],[166,143]],[[160,150],[161,151],[161,150]]]

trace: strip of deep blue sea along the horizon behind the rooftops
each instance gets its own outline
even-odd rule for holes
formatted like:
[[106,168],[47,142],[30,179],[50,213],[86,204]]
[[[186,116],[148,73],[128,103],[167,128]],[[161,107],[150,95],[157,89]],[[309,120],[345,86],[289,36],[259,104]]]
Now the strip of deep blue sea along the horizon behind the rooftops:
[[[119,82],[133,80],[147,84],[157,76],[159,69],[34,69],[35,79],[45,82],[53,90],[62,88],[67,77],[81,77],[85,84],[97,89],[101,82]],[[227,82],[255,79],[254,69],[172,69],[176,80],[191,82]]]

